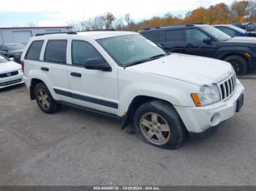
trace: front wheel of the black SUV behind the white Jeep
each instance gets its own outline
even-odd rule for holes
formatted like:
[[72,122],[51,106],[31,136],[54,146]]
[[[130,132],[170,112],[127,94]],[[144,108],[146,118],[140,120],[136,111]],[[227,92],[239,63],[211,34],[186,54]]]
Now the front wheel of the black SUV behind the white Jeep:
[[227,58],[225,58],[224,61],[230,63],[233,66],[233,69],[236,71],[236,75],[240,76],[247,73],[247,62],[240,55],[227,56]]

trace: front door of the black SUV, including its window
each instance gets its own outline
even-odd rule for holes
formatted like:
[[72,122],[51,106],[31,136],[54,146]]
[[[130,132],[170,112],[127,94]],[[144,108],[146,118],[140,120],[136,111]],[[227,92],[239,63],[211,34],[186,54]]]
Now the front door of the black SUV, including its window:
[[[186,36],[186,52],[189,55],[201,55],[213,57],[217,50],[217,42],[198,28],[187,28]],[[204,39],[211,39],[211,42],[203,42]]]

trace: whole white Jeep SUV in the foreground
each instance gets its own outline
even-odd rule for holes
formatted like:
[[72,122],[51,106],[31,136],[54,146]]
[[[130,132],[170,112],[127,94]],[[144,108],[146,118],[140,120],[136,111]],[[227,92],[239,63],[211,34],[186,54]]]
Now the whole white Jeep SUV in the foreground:
[[133,120],[140,139],[176,149],[186,131],[204,136],[233,117],[244,87],[230,63],[167,53],[140,34],[39,34],[21,57],[31,99],[42,112],[61,104]]

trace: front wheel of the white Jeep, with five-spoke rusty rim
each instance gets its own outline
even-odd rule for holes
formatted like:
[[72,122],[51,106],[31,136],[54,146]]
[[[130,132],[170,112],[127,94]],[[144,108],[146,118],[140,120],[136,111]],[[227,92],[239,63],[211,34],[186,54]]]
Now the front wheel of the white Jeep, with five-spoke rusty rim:
[[135,112],[134,125],[140,139],[162,149],[177,149],[186,134],[178,113],[166,101],[142,104]]

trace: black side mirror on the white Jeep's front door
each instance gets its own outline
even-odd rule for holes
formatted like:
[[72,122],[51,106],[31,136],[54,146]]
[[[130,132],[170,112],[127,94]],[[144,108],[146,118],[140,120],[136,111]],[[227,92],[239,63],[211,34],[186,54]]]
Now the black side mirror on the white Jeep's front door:
[[111,67],[109,66],[109,64],[99,58],[87,59],[85,63],[85,68],[91,70],[111,71]]

